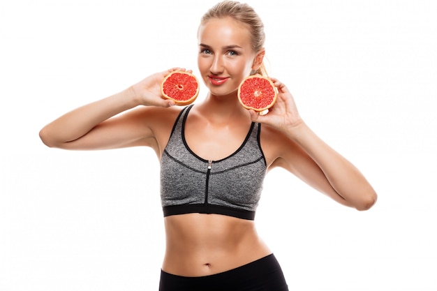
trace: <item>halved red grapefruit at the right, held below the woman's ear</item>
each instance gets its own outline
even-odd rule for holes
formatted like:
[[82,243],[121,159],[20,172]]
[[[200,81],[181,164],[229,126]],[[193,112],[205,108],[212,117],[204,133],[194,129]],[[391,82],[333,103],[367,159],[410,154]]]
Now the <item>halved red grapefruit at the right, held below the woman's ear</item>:
[[278,89],[269,78],[262,75],[246,77],[238,87],[239,103],[256,112],[266,113],[277,97]]

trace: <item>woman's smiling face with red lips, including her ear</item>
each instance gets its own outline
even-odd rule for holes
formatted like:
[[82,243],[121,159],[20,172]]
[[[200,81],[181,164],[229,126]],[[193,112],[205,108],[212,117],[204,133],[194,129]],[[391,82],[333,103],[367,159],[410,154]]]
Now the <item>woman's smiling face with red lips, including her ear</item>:
[[198,43],[202,80],[216,96],[235,93],[242,80],[262,62],[252,49],[249,29],[230,17],[202,24]]

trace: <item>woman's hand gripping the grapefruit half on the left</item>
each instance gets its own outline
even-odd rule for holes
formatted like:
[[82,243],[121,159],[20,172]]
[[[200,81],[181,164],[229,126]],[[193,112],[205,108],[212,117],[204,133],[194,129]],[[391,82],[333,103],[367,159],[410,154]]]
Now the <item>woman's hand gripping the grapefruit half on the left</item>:
[[[170,68],[160,73],[155,73],[146,77],[144,80],[130,87],[133,98],[140,104],[145,106],[170,107],[175,105],[175,101],[166,99],[161,94],[161,83],[165,76],[175,70],[185,71],[184,68]],[[191,70],[188,70],[191,73]]]

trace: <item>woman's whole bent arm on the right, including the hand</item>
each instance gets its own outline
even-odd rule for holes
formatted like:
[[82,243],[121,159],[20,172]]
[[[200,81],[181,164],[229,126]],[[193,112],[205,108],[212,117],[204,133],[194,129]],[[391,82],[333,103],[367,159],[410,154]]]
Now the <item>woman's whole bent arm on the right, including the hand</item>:
[[279,90],[275,105],[263,116],[251,111],[253,121],[272,126],[283,135],[271,167],[283,167],[341,204],[358,210],[372,207],[377,195],[362,173],[313,133],[299,117],[286,86],[272,81]]

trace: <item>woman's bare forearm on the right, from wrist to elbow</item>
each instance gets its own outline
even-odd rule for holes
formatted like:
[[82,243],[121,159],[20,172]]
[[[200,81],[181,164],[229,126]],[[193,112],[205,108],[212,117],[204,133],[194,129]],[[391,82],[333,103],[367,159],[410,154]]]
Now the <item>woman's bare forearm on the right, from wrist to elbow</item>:
[[323,142],[303,121],[287,130],[286,134],[320,167],[334,191],[346,200],[345,204],[365,210],[376,202],[376,193],[362,173]]

